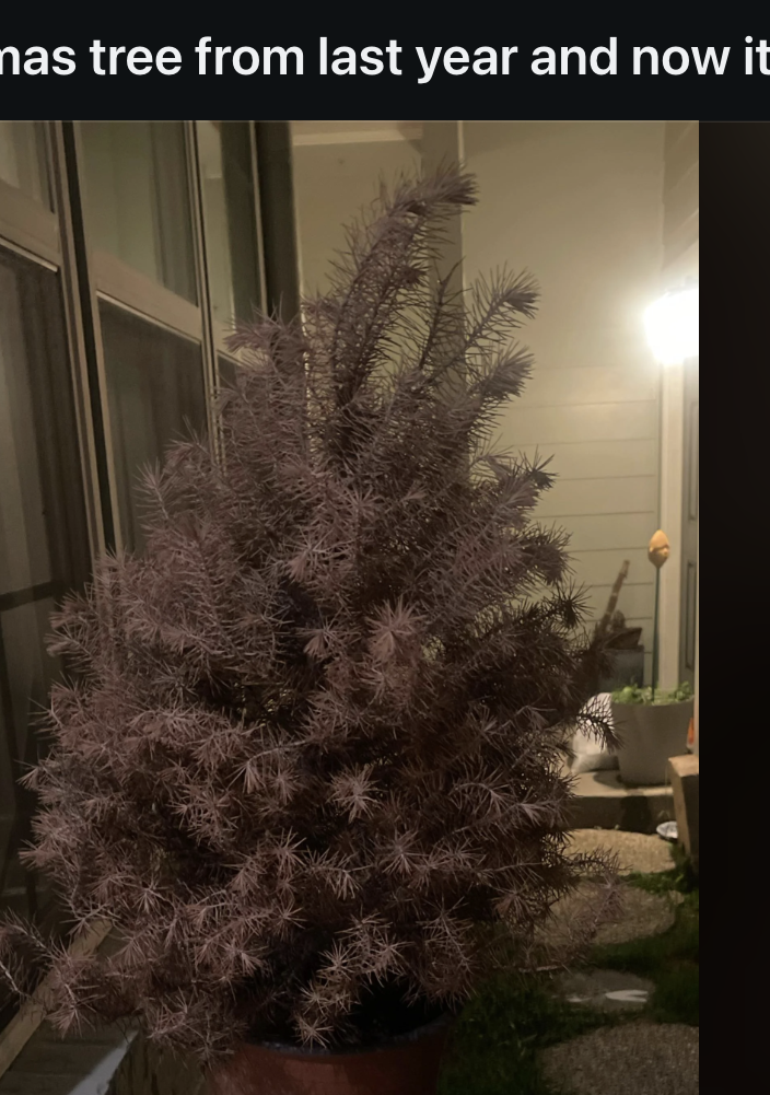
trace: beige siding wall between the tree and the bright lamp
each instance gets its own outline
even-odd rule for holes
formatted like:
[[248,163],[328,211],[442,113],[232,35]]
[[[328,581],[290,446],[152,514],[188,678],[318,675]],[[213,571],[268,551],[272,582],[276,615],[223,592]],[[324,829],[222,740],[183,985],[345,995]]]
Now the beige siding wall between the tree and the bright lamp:
[[618,608],[643,627],[648,675],[659,373],[642,318],[663,257],[664,125],[464,123],[463,137],[480,187],[463,219],[467,281],[507,264],[542,290],[521,332],[536,369],[499,440],[552,457],[538,516],[571,533],[595,618],[630,561]]

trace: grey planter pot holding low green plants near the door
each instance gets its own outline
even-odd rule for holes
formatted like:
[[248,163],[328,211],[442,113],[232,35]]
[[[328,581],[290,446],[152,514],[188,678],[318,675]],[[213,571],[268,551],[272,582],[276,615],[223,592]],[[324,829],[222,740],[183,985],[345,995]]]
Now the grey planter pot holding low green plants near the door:
[[692,700],[681,703],[613,703],[612,721],[621,741],[618,750],[623,783],[666,783],[668,758],[687,752]]

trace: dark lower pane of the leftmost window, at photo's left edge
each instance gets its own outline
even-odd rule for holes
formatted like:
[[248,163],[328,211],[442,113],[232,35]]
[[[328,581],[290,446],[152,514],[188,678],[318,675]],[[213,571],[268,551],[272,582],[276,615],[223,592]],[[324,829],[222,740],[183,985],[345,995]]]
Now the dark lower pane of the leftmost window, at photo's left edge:
[[88,566],[59,278],[0,250],[0,908],[41,921],[48,901],[19,862],[35,799],[18,780],[58,668],[48,618]]

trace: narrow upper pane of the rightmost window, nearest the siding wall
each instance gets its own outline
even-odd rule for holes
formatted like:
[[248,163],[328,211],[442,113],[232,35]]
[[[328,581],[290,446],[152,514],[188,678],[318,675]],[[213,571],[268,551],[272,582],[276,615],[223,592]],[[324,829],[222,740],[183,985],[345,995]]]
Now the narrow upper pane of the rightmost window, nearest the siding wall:
[[261,307],[248,122],[198,122],[211,312],[223,333]]

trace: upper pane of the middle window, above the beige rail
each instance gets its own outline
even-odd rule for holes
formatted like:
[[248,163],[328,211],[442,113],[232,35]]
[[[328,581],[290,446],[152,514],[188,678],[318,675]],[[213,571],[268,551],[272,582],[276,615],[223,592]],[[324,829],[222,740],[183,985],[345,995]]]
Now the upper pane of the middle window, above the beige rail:
[[92,245],[197,303],[184,126],[84,122]]

